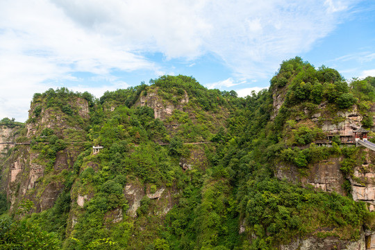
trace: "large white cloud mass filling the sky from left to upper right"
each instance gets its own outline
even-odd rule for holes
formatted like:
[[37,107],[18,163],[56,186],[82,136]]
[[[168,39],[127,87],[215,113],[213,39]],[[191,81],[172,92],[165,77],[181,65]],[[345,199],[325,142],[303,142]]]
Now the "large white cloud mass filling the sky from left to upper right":
[[[281,60],[308,51],[333,31],[351,4],[349,0],[3,0],[0,117],[12,116],[5,110],[17,103],[15,110],[27,110],[31,95],[53,86],[48,83],[79,83],[77,72],[114,76],[147,70],[157,76],[171,71],[147,59],[149,53],[192,65],[195,58],[210,53],[233,70],[233,78],[264,79]],[[213,84],[230,88],[237,83],[228,78]]]

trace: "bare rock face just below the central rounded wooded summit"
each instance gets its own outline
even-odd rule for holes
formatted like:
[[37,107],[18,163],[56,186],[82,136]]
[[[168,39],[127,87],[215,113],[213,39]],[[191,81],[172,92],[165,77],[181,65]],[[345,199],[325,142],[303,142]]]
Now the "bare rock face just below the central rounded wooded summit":
[[188,93],[184,90],[184,96],[178,100],[178,103],[166,101],[158,95],[158,88],[149,88],[147,95],[141,94],[140,99],[135,103],[135,106],[148,106],[153,108],[155,119],[165,120],[172,115],[173,110],[183,110],[183,106],[189,102]]

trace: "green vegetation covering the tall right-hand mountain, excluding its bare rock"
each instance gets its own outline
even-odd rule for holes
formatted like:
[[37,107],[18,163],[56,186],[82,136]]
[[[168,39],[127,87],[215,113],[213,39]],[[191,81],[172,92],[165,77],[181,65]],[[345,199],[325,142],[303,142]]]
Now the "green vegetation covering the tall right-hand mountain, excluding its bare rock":
[[[283,62],[271,83],[269,91],[247,98],[249,106],[241,114],[244,118],[240,114],[235,116],[249,122],[240,125],[243,130],[238,131],[243,132],[237,138],[231,138],[222,148],[218,146],[217,155],[222,157],[211,176],[213,180],[225,178],[234,188],[243,226],[240,229],[242,247],[269,249],[290,241],[298,242],[303,237],[316,240],[334,236],[342,240],[337,244],[360,240],[363,227],[372,225],[372,220],[367,220],[371,216],[365,203],[319,192],[311,185],[301,188],[274,176],[281,162],[297,168],[297,173],[306,177],[313,163],[341,155],[341,171],[351,178],[353,170],[350,169],[357,164],[352,159],[358,156],[359,149],[340,148],[337,144],[332,148],[317,147],[310,142],[324,138],[323,125],[331,122],[328,119],[334,119],[340,110],[347,111],[357,104],[359,110],[369,111],[374,88],[367,81],[353,81],[349,88],[334,69],[317,70],[301,58]],[[317,112],[322,114],[322,119],[311,122],[310,118]],[[364,126],[372,126],[372,119],[368,124],[366,121],[362,120]],[[308,149],[292,149],[294,145],[306,144],[310,144]]]

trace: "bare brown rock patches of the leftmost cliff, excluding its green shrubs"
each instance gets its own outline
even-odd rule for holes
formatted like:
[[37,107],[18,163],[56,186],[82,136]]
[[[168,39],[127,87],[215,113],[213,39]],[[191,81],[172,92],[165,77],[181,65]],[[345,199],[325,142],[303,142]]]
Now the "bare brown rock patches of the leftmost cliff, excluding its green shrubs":
[[[72,98],[68,104],[74,108],[75,114],[81,116],[83,121],[89,119],[88,102],[85,99]],[[35,117],[34,110],[38,106],[41,107],[41,112],[38,117]],[[23,134],[24,142],[40,138],[44,128],[51,128],[54,134],[65,142],[67,142],[67,130],[69,129],[75,133],[77,131],[82,131],[83,135],[85,133],[82,124],[74,121],[60,108],[47,108],[44,100],[31,103],[29,117],[33,122],[26,124]],[[0,140],[9,138],[9,136],[12,136],[11,131],[6,131],[6,136],[0,136]],[[64,188],[65,179],[61,172],[72,167],[81,147],[81,144],[68,143],[66,149],[56,153],[53,167],[46,170],[48,160],[42,157],[40,149],[33,149],[28,144],[17,146],[3,165],[1,180],[10,200],[10,210],[17,209],[18,203],[22,199],[33,201],[35,208],[31,212],[41,212],[53,207]],[[49,177],[44,178],[46,175]],[[7,178],[4,178],[5,176]]]

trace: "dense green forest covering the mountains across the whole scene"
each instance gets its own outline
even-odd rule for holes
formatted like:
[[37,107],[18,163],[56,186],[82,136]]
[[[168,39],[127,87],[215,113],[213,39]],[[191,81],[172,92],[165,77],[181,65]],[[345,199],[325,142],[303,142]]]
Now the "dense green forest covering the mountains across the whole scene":
[[[353,185],[367,186],[358,168],[373,173],[375,154],[328,128],[356,113],[358,128],[375,140],[374,103],[374,77],[347,81],[299,57],[281,63],[269,89],[245,98],[181,75],[99,99],[66,88],[36,93],[26,124],[0,121],[15,142],[29,142],[1,152],[0,248],[358,242],[375,231],[375,214]],[[329,147],[318,145],[328,135]],[[24,167],[12,177],[15,162]],[[314,167],[333,162],[342,176],[338,190],[303,182]],[[31,185],[35,166],[42,174]],[[283,178],[285,166],[298,178]],[[51,203],[42,202],[52,192],[46,190]]]

